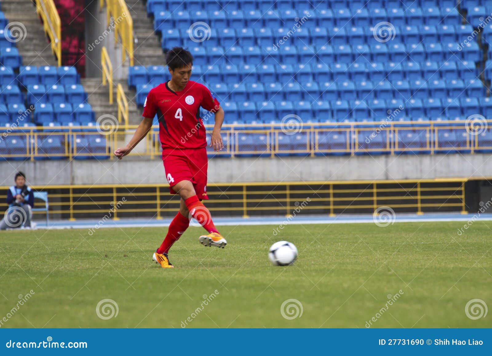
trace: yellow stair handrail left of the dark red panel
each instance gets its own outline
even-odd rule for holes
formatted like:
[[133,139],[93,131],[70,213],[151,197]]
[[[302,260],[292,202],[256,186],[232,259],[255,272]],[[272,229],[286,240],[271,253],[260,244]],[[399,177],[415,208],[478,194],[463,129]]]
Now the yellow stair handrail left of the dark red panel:
[[62,65],[62,22],[53,0],[35,0],[36,12],[43,20],[44,32],[51,42],[51,50]]

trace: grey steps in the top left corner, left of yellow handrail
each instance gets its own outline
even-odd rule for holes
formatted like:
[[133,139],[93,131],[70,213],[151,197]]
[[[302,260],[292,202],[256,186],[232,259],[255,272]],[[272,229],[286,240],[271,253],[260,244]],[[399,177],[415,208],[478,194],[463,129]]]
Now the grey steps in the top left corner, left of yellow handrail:
[[9,23],[20,22],[26,28],[22,38],[24,33],[26,37],[16,43],[23,65],[58,65],[31,0],[2,0],[1,10]]

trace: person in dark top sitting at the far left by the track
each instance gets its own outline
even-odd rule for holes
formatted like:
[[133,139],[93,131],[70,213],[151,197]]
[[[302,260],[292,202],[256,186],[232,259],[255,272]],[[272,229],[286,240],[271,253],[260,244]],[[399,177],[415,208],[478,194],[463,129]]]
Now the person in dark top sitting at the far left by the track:
[[26,176],[22,172],[15,175],[15,185],[7,191],[8,209],[0,222],[0,230],[16,227],[31,227],[31,208],[34,206],[34,194],[26,185]]

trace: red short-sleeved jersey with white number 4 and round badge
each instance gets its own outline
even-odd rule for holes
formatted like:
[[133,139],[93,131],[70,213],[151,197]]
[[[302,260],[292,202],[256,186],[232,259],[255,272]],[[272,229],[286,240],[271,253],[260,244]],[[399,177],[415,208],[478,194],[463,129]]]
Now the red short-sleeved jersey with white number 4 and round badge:
[[200,106],[215,112],[219,102],[204,85],[191,80],[181,92],[166,83],[153,88],[144,103],[143,117],[159,121],[162,148],[202,148],[207,146]]

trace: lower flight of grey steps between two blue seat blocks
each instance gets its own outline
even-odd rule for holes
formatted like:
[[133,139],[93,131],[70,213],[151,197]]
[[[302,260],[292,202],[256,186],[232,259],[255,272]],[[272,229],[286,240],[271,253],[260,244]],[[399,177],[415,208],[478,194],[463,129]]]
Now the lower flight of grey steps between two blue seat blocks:
[[[116,86],[120,83],[123,86],[123,91],[126,94],[128,100],[128,124],[138,125],[142,121],[142,110],[137,109],[133,96],[135,91],[130,91],[126,81],[115,82],[113,86],[113,104],[109,103],[109,89],[108,85],[101,85],[101,78],[83,78],[80,80],[84,86],[88,99],[87,101],[92,106],[92,110],[95,114],[95,120],[101,115],[113,115],[118,118],[118,103],[116,102]],[[124,125],[124,122],[120,125]]]

